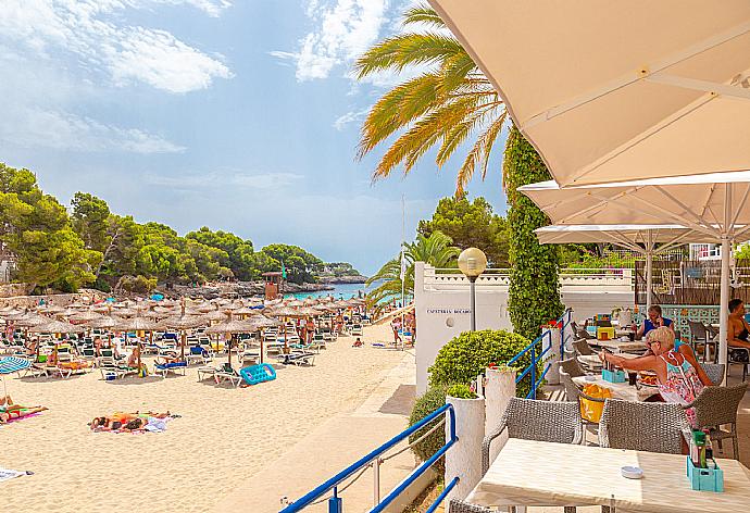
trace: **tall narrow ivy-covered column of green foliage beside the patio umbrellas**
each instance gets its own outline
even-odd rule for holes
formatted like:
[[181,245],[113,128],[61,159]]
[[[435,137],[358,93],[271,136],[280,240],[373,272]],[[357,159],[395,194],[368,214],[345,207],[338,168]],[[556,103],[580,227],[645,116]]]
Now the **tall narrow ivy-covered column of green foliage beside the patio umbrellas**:
[[530,199],[518,192],[521,186],[550,179],[539,154],[521,132],[511,127],[505,142],[503,179],[508,192],[511,285],[508,309],[513,328],[535,339],[540,326],[562,315],[560,300],[560,253],[555,245],[540,245],[534,230],[549,218]]

